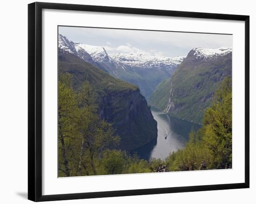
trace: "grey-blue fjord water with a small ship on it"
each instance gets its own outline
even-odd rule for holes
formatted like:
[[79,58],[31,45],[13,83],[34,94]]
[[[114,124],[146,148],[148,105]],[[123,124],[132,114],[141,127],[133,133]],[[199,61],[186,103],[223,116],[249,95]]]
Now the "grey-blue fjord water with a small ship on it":
[[[148,160],[151,157],[167,158],[170,152],[185,147],[185,143],[189,140],[189,133],[192,128],[197,131],[201,127],[201,125],[171,117],[155,107],[151,107],[151,112],[154,119],[157,121],[157,138],[131,152],[136,152],[136,154],[143,159]],[[167,134],[166,139],[165,134]]]

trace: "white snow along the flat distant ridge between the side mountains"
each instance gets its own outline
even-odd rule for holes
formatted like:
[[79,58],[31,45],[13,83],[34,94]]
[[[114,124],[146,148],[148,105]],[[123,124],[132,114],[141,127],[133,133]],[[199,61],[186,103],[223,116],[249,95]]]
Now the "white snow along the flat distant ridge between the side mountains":
[[174,67],[182,63],[185,57],[151,56],[144,53],[117,53],[110,55],[113,59],[132,67]]

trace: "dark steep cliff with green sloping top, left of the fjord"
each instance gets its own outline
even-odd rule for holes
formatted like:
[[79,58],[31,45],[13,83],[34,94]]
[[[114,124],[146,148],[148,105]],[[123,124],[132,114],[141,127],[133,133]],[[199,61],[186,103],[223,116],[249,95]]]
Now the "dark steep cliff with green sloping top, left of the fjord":
[[113,124],[121,137],[121,149],[131,151],[157,137],[156,121],[137,86],[115,79],[60,48],[58,68],[59,73],[73,75],[74,89],[84,81],[89,82],[99,106],[98,115]]

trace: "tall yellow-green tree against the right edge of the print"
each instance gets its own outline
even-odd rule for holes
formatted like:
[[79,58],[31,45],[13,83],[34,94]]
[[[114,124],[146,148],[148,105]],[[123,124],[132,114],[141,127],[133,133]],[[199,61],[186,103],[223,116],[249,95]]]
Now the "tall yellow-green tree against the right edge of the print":
[[232,162],[232,82],[225,78],[216,91],[213,105],[205,112],[202,138],[212,152],[216,168]]

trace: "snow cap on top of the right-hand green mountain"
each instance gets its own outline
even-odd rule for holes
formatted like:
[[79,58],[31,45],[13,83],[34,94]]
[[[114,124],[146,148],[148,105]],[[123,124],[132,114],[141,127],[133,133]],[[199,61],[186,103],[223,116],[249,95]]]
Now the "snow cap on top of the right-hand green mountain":
[[196,59],[211,59],[231,53],[232,47],[220,47],[216,49],[194,48],[192,51]]

